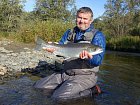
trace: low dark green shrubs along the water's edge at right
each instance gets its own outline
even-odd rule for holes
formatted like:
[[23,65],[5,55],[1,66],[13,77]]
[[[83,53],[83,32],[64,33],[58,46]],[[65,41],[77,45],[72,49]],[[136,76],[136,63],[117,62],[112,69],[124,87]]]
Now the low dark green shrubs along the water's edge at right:
[[111,38],[107,42],[107,49],[140,52],[140,36],[121,36]]

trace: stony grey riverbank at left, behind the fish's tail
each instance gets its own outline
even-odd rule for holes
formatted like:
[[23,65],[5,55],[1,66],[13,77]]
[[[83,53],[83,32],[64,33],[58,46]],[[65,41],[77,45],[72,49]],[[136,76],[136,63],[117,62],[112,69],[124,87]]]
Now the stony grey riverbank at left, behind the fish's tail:
[[[56,69],[57,58],[46,51],[35,51],[34,44],[24,44],[7,39],[0,41],[0,76],[11,76],[17,72],[40,72],[40,70]],[[58,68],[57,68],[58,69]],[[46,70],[47,71],[47,70]]]

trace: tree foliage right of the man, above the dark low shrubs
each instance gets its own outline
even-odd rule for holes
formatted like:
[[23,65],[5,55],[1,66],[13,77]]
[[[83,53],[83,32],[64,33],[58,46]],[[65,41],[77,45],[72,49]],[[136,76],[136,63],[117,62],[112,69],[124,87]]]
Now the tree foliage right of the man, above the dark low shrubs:
[[105,9],[103,20],[109,35],[140,35],[139,0],[107,0]]

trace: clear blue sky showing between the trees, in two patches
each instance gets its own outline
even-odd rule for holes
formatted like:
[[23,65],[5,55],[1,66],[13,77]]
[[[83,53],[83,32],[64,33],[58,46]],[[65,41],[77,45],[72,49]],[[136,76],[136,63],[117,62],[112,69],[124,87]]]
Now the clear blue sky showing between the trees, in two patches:
[[[77,9],[83,6],[90,7],[94,13],[94,18],[101,16],[105,9],[104,4],[107,0],[76,0]],[[24,9],[26,11],[32,11],[35,6],[35,0],[27,0]]]

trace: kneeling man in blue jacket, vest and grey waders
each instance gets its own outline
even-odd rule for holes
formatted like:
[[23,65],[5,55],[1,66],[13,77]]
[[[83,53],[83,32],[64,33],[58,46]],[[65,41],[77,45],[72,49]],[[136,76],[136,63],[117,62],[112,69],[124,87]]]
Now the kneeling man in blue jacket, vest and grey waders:
[[[68,42],[90,42],[101,46],[105,51],[105,37],[102,32],[93,28],[93,12],[89,7],[82,7],[77,11],[76,27],[67,30],[59,44]],[[56,49],[48,48],[49,52]],[[92,56],[86,50],[82,51],[78,59],[69,59],[64,62],[64,72],[54,73],[37,81],[36,88],[52,89],[52,98],[63,100],[87,96],[91,88],[96,85],[99,65],[101,65],[104,52]]]

